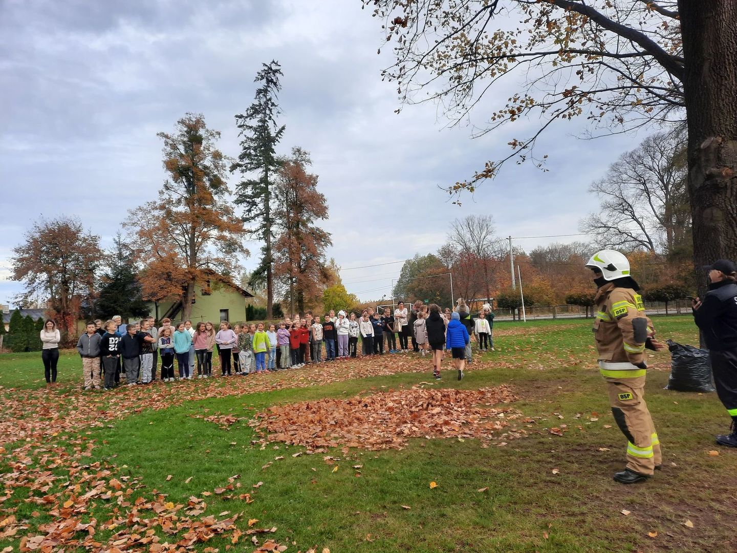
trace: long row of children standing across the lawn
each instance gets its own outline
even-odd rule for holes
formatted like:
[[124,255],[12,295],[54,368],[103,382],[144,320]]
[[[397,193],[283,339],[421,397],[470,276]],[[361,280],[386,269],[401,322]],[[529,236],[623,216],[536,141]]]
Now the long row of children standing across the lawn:
[[[302,318],[295,314],[292,319],[285,317],[278,324],[268,324],[268,327],[262,322],[231,327],[228,321],[220,321],[217,331],[210,321],[198,322],[193,327],[192,321],[172,325],[171,319],[163,319],[161,327],[157,328],[153,317],[130,324],[122,324],[119,316],[104,323],[98,319],[86,325],[85,334],[77,341],[77,351],[83,363],[84,388],[113,389],[119,385],[121,375],[125,375],[128,386],[136,386],[139,381],[148,384],[156,380],[158,358],[161,358],[161,380],[164,382],[192,380],[195,363],[197,378],[212,378],[212,355],[216,348],[223,376],[250,375],[355,358],[359,338],[363,355],[383,355],[385,344],[388,353],[408,352],[410,321],[416,352],[424,356],[429,349],[441,354],[444,349],[452,349],[446,336],[452,319],[450,309],[442,315],[438,306],[430,306],[428,312],[427,306],[418,303],[408,316],[402,302],[398,307],[394,316],[389,308],[380,316],[369,307],[360,317],[356,313],[346,316],[343,310],[336,316],[335,311],[330,310],[324,321],[307,311]],[[461,320],[470,320],[467,313],[462,314]],[[466,321],[463,323],[467,337],[475,330],[481,351],[489,347],[491,328],[488,316],[482,311],[479,319],[471,323],[472,327]],[[442,321],[441,327],[438,327],[438,319]],[[397,333],[400,349],[397,349],[395,340]],[[466,344],[465,359],[470,362],[469,341]],[[433,355],[436,378],[440,378],[441,358],[442,355]],[[178,378],[175,378],[175,361]],[[460,375],[459,369],[459,378]]]

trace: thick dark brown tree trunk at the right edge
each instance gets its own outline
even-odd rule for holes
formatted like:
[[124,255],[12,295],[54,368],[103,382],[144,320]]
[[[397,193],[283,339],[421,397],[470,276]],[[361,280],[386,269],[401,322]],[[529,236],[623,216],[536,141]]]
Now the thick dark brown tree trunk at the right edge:
[[[679,0],[694,265],[737,254],[737,2]],[[697,273],[699,292],[705,290]]]

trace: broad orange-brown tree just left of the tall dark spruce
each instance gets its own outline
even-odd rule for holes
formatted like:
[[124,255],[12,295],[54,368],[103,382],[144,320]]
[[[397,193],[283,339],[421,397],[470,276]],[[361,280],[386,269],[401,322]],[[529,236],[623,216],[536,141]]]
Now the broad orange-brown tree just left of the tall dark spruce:
[[186,114],[164,140],[169,178],[158,194],[128,214],[125,226],[138,246],[145,299],[181,299],[182,317],[192,313],[195,284],[206,287],[213,272],[234,274],[242,246],[242,221],[228,201],[227,159],[216,147],[220,132],[207,128],[201,114]]

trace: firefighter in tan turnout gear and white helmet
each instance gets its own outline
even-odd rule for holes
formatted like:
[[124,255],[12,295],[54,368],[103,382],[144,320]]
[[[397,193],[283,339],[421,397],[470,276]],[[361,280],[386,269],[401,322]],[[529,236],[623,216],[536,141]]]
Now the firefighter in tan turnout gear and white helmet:
[[596,252],[587,262],[598,287],[594,333],[598,365],[607,382],[614,420],[627,439],[627,465],[614,475],[634,484],[660,468],[660,442],[645,403],[645,349],[662,349],[645,315],[640,287],[629,275],[629,261],[615,250]]

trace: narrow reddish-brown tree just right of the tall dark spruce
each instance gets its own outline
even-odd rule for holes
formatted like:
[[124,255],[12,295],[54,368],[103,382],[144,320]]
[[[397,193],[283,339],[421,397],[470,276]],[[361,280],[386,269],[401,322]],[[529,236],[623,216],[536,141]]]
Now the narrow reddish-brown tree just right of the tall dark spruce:
[[274,272],[287,283],[290,313],[304,312],[306,302],[315,305],[331,281],[325,249],[332,240],[320,224],[328,209],[317,189],[318,175],[307,173],[311,164],[308,152],[293,147],[290,158],[282,160],[274,186]]

